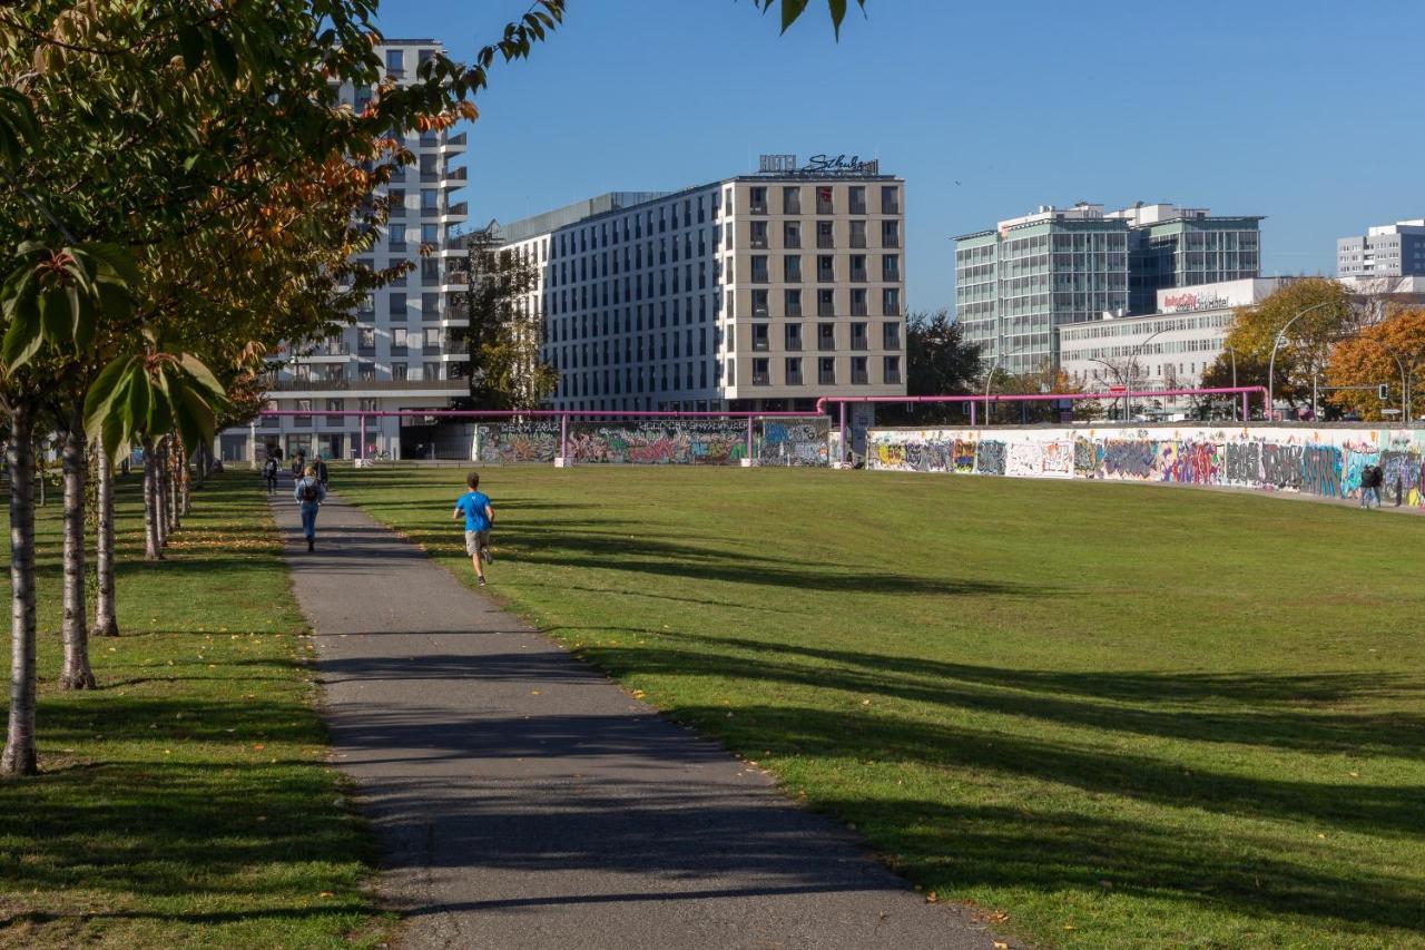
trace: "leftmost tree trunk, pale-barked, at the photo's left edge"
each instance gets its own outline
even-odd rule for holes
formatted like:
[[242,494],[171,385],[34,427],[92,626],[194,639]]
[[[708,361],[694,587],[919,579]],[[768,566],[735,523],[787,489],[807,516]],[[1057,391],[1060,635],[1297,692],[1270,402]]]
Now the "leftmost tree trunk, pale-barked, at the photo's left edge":
[[34,415],[10,414],[10,729],[0,775],[34,775]]

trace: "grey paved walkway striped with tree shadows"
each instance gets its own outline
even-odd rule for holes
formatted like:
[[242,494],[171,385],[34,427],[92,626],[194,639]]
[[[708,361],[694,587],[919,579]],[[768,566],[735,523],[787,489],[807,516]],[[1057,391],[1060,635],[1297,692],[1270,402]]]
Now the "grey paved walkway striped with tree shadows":
[[285,484],[336,762],[409,916],[402,946],[992,946],[339,498],[308,553]]

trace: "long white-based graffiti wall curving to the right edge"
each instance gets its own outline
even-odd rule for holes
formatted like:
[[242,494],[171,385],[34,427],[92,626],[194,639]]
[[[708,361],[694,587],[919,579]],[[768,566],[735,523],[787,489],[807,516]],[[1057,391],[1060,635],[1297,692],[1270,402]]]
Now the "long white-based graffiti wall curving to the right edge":
[[1361,492],[1361,472],[1385,469],[1382,501],[1425,508],[1425,429],[1297,427],[871,429],[869,468],[1106,478],[1294,491]]

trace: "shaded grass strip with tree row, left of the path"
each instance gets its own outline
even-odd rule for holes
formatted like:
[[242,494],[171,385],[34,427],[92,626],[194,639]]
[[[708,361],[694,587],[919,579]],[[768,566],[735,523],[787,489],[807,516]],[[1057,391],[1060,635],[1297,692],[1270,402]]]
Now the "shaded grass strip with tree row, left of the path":
[[54,688],[56,492],[40,518],[43,775],[0,783],[0,944],[378,943],[373,844],[326,763],[261,482],[209,482],[145,565],[137,481],[118,504],[124,635],[93,642],[95,692]]

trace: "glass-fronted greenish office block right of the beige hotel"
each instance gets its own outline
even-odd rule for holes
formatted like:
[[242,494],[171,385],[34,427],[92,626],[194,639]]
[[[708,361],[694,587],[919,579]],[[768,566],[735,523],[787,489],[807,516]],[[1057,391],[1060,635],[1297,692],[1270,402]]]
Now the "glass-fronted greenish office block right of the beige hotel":
[[1059,367],[1062,327],[1150,312],[1160,290],[1257,277],[1260,221],[1170,204],[1042,205],[955,238],[956,318],[986,362]]

